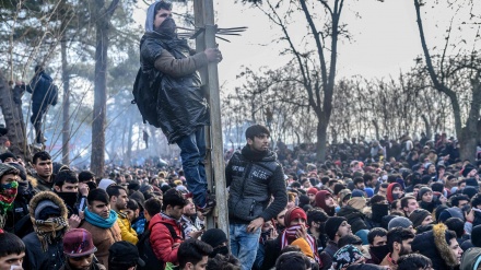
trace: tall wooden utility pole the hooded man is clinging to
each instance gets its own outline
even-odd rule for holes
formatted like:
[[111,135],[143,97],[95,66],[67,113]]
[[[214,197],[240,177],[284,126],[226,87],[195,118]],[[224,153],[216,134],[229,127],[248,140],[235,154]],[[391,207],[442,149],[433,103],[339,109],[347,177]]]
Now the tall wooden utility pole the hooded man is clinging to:
[[[206,48],[215,48],[214,8],[213,0],[193,1],[193,15],[196,31],[200,33],[196,37],[197,51],[203,51]],[[202,70],[200,75],[203,83],[203,90],[208,93],[211,126],[206,129],[206,140],[208,148],[206,174],[209,188],[215,190],[218,206],[213,214],[207,216],[207,227],[212,228],[215,225],[224,232],[228,232],[227,214],[227,192],[225,188],[225,165],[224,165],[224,143],[222,141],[222,121],[221,121],[221,97],[219,90],[218,63],[212,62]]]

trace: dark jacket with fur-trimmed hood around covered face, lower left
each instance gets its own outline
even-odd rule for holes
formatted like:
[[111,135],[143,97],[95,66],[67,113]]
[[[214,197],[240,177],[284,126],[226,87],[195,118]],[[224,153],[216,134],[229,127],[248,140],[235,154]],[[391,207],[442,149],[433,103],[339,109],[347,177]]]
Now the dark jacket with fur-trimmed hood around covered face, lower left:
[[[56,206],[60,208],[60,215],[67,219],[67,207],[62,199],[56,196],[54,192],[39,192],[34,198],[32,198],[30,203],[30,215],[35,216],[35,210],[38,203],[43,200],[50,200]],[[48,242],[47,251],[44,253],[42,249],[42,243],[36,234],[36,232],[30,233],[23,237],[23,243],[25,244],[25,259],[23,260],[23,268],[25,270],[58,270],[62,267],[64,261],[63,256],[63,233],[57,232],[57,237],[52,242]]]

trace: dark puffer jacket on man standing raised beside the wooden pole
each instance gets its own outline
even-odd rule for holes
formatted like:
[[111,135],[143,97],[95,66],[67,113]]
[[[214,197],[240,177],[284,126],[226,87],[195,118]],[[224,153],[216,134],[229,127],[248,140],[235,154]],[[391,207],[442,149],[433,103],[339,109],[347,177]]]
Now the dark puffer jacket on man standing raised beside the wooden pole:
[[[259,216],[269,221],[288,204],[284,173],[270,150],[256,153],[248,145],[244,146],[232,156],[225,177],[230,187],[231,223],[247,224]],[[271,196],[274,200],[269,204]]]

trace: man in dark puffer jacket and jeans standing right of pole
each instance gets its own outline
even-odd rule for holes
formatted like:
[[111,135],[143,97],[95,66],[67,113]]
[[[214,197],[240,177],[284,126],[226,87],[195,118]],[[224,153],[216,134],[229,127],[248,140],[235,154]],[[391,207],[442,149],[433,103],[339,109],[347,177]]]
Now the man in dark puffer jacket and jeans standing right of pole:
[[269,150],[269,137],[266,127],[249,127],[247,145],[234,153],[225,169],[231,251],[241,260],[243,270],[253,267],[262,224],[288,204],[284,172],[275,153]]

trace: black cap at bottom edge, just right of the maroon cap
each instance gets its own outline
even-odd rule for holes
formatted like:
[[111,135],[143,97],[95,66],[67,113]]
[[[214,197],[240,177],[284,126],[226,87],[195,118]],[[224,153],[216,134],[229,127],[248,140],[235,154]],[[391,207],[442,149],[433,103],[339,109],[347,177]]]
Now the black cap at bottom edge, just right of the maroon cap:
[[109,265],[137,263],[141,267],[145,266],[145,262],[140,258],[137,247],[129,242],[120,240],[114,243],[108,248],[108,253]]

